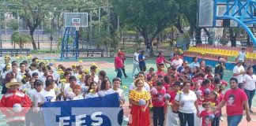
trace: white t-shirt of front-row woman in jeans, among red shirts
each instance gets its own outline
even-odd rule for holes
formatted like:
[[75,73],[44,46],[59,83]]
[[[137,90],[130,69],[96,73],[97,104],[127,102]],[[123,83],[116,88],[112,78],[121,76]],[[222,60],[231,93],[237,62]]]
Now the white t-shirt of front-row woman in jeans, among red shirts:
[[175,96],[175,100],[184,103],[184,106],[179,107],[179,112],[181,113],[194,113],[195,106],[194,102],[197,101],[197,96],[194,94],[194,91],[190,91],[188,94],[181,93],[181,97],[179,97],[180,94],[177,93]]

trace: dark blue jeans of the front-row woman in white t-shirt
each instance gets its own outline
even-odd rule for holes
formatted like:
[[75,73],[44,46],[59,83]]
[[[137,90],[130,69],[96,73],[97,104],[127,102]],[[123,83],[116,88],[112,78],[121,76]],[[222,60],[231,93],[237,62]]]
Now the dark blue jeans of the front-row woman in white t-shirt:
[[194,126],[194,113],[181,113],[179,112],[180,126]]

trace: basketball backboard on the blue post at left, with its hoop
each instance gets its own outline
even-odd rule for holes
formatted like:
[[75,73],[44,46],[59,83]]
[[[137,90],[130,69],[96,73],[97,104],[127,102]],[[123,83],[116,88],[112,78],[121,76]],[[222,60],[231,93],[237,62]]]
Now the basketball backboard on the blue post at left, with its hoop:
[[88,13],[64,13],[65,27],[88,27]]

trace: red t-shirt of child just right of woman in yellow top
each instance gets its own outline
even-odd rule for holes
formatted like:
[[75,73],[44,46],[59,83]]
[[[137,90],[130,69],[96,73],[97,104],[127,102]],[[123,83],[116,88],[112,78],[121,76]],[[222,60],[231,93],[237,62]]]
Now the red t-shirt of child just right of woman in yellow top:
[[164,107],[164,95],[165,95],[165,88],[163,87],[161,90],[157,90],[157,95],[152,95],[152,106],[155,107]]

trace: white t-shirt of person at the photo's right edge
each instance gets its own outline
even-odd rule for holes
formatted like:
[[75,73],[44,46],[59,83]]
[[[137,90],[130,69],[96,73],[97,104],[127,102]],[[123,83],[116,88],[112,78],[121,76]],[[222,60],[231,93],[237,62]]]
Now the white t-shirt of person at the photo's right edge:
[[256,76],[252,75],[244,75],[243,76],[243,82],[245,82],[244,84],[244,88],[249,90],[249,91],[253,91],[256,89]]

